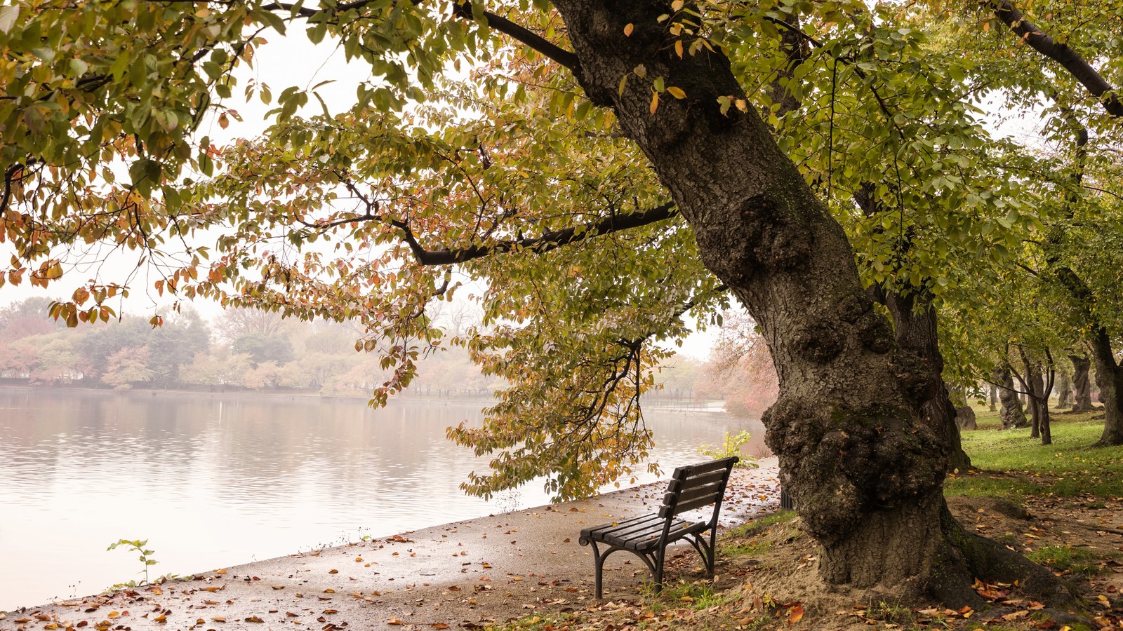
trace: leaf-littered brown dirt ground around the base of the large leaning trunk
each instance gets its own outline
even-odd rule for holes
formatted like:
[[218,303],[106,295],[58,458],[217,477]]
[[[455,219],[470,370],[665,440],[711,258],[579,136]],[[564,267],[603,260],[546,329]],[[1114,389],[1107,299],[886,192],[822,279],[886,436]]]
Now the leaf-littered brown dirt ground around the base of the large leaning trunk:
[[[986,474],[983,474],[986,475]],[[1005,475],[1005,474],[997,474]],[[1051,567],[1084,598],[1083,609],[1052,610],[1024,597],[1016,585],[975,589],[986,609],[959,611],[904,602],[894,593],[827,587],[818,579],[816,547],[794,513],[760,520],[727,533],[718,580],[695,573],[693,584],[661,601],[602,605],[573,628],[686,627],[695,629],[965,629],[985,631],[1123,629],[1123,499],[1028,499],[1013,504],[992,497],[950,497],[968,529]],[[679,565],[694,559],[681,556]],[[688,573],[688,570],[686,570]],[[667,623],[667,621],[674,621]]]

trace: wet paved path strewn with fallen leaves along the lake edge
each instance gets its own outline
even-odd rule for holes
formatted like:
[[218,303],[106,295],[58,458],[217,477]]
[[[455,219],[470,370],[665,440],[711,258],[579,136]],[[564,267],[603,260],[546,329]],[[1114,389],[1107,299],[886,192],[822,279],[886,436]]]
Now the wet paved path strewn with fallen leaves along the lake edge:
[[[734,469],[722,524],[774,511],[777,485],[775,458]],[[83,621],[91,629],[122,630],[474,629],[584,606],[593,602],[593,563],[590,549],[577,545],[579,530],[650,512],[665,488],[660,481],[204,571],[185,582],[20,607],[0,616],[0,631],[76,628]],[[688,546],[673,550],[696,563]],[[630,555],[613,556],[605,564],[605,597],[634,596],[646,571]],[[679,577],[681,570],[668,574],[668,580]]]

